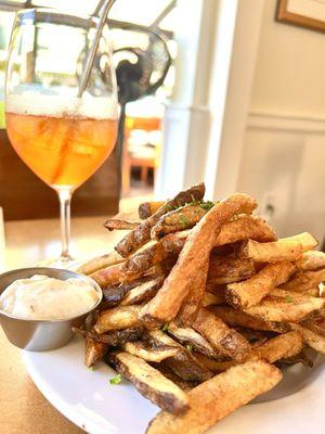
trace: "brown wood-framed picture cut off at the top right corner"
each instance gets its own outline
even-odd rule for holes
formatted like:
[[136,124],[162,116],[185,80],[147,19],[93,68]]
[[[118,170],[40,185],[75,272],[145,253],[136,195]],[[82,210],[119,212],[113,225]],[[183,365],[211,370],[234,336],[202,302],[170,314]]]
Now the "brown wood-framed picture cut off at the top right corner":
[[325,33],[325,0],[278,0],[276,20]]

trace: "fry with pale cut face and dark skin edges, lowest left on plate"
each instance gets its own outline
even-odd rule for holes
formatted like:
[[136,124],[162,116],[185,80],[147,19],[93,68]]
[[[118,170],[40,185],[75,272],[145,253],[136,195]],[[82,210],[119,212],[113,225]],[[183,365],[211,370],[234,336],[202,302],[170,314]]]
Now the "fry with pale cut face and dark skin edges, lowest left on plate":
[[131,381],[143,396],[158,407],[173,414],[181,414],[187,410],[186,394],[143,359],[121,352],[109,354],[107,360]]

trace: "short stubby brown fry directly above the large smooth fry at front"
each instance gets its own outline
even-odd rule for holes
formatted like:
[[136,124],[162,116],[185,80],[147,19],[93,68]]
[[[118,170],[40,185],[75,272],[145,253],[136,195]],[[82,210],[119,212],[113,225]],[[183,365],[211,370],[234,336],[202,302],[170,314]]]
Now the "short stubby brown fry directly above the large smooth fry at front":
[[200,308],[193,322],[193,329],[209,343],[234,360],[244,360],[250,352],[246,339],[234,329],[230,329],[220,318],[205,308]]

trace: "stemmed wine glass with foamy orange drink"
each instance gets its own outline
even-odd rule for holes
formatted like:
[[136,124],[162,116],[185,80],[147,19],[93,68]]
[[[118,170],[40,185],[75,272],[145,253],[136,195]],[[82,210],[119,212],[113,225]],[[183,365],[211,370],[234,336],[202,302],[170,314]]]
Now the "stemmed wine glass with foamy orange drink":
[[8,135],[20,157],[58,194],[63,263],[70,260],[72,195],[108,157],[117,136],[117,87],[106,24],[86,90],[78,97],[96,24],[94,17],[57,10],[23,10],[9,51]]

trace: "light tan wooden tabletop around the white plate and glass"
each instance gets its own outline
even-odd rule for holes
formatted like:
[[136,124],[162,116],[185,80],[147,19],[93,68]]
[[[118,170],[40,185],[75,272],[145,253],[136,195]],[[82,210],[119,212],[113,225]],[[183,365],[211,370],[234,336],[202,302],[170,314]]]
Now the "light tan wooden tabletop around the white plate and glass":
[[[72,251],[80,258],[91,252],[107,250],[107,245],[112,245],[114,239],[118,237],[117,233],[109,233],[103,228],[103,217],[73,219],[72,228]],[[58,255],[57,219],[5,224],[5,269],[29,266]],[[1,433],[83,433],[56,411],[37,390],[25,370],[20,349],[6,341],[2,329],[0,329],[0,345]]]

